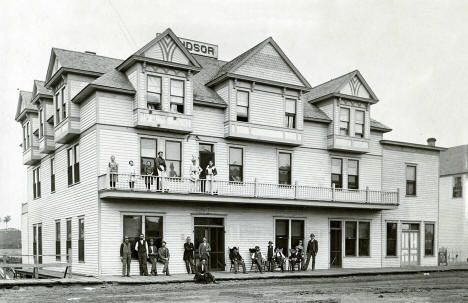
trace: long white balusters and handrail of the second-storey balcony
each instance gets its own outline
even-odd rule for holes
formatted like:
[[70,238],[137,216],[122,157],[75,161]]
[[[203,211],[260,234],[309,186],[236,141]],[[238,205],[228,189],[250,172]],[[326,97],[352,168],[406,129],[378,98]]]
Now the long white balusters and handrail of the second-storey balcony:
[[[133,183],[131,183],[133,182]],[[353,202],[398,205],[399,191],[338,189],[308,185],[281,185],[259,182],[196,180],[189,178],[162,178],[128,174],[99,176],[100,191],[135,191],[168,194],[200,194],[242,198],[270,198],[326,202]]]

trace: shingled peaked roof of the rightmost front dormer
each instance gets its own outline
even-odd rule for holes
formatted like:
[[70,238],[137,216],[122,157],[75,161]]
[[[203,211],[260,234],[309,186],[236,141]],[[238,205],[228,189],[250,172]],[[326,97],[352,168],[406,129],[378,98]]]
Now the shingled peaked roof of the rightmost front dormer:
[[369,87],[367,84],[366,80],[364,80],[364,77],[361,75],[359,70],[354,70],[350,73],[344,74],[338,78],[331,79],[325,83],[322,83],[320,85],[317,85],[313,87],[306,95],[305,98],[307,101],[312,101],[312,102],[317,102],[319,100],[322,100],[324,97],[329,97],[333,96],[336,94],[340,94],[340,90],[343,88],[344,85],[346,85],[354,76],[358,77],[358,79],[361,81],[362,85],[367,89],[369,92],[369,95],[372,97],[372,99],[377,102],[379,99],[377,96],[374,94],[372,89]]

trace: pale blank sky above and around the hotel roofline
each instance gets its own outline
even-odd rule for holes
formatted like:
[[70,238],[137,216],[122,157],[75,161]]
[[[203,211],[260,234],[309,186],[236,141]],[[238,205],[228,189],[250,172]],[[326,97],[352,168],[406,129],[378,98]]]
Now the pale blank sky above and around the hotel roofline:
[[[0,217],[26,201],[18,90],[59,47],[125,59],[170,27],[231,60],[271,36],[312,86],[359,69],[385,139],[468,143],[468,1],[0,0]],[[0,225],[0,228],[4,225]]]

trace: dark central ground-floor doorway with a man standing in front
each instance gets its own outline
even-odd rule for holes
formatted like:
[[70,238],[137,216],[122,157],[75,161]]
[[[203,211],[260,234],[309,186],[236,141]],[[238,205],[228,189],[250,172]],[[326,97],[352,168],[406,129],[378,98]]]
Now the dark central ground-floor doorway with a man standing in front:
[[194,241],[195,258],[199,261],[198,247],[203,242],[203,238],[208,240],[211,246],[208,268],[211,271],[225,270],[224,252],[224,218],[195,217],[194,218]]

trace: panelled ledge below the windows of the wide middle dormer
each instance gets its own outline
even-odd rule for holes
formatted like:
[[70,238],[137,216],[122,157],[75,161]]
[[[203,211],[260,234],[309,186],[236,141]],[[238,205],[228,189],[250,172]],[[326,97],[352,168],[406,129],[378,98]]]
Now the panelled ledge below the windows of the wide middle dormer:
[[291,146],[302,144],[301,130],[237,121],[224,124],[224,137]]

